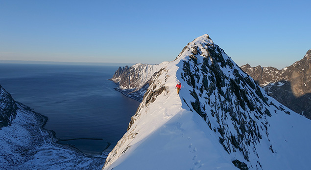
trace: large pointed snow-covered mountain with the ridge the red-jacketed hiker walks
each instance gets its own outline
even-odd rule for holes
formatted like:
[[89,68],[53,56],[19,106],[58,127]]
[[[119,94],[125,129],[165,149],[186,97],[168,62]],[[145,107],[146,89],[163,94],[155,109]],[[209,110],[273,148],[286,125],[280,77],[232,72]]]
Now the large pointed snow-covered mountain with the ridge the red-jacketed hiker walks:
[[310,130],[205,34],[153,74],[103,170],[309,170]]

